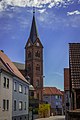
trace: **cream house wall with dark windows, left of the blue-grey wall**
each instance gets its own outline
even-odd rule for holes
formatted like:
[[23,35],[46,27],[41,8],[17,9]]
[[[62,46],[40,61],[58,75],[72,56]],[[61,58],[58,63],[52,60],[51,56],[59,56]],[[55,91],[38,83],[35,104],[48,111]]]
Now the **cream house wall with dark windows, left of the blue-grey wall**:
[[12,120],[12,76],[0,72],[0,120]]

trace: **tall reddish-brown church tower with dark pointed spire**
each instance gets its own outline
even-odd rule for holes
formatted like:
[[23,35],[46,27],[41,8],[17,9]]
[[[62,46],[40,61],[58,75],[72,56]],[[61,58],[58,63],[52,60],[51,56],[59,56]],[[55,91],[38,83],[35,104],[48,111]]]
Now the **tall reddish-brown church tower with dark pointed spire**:
[[25,46],[26,76],[30,77],[30,83],[34,86],[34,98],[43,98],[43,45],[39,39],[35,21],[35,11],[30,36]]

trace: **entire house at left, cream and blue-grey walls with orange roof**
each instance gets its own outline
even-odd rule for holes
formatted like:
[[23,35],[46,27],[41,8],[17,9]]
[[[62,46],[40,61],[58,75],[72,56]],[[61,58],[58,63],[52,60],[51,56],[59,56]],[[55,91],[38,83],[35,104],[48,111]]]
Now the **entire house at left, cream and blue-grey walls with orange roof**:
[[0,51],[0,120],[28,120],[29,83]]

